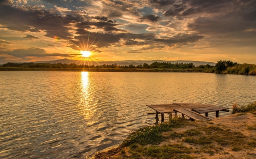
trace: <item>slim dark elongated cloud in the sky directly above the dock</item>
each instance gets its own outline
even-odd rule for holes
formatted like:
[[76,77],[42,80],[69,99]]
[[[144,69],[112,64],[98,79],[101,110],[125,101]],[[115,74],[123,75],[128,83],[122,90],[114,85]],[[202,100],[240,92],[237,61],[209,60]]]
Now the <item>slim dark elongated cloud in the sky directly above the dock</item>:
[[156,38],[154,41],[161,42],[168,46],[172,46],[174,44],[187,45],[188,43],[196,42],[203,37],[204,36],[201,36],[201,35],[182,35],[182,36],[175,36],[171,38]]

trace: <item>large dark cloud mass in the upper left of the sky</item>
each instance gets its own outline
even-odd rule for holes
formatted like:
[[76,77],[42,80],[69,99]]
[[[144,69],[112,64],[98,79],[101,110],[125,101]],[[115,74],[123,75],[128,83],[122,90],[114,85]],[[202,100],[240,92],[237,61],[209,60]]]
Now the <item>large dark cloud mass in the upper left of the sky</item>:
[[47,32],[47,37],[72,36],[65,24],[81,20],[81,16],[60,16],[47,10],[34,10],[31,7],[14,8],[5,5],[0,6],[0,14],[0,22],[6,25],[6,28],[22,32],[43,30]]

